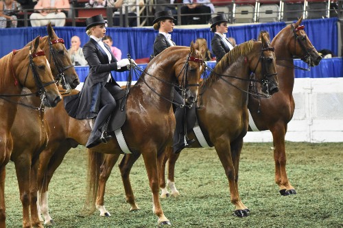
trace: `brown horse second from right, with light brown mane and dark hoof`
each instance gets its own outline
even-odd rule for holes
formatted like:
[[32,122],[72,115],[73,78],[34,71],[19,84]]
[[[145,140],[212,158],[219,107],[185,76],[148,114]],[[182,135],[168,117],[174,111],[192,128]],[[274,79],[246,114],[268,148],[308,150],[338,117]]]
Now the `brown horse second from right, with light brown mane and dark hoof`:
[[[263,85],[262,91],[274,94],[279,90],[277,86],[276,61],[274,49],[269,47],[269,40],[263,36],[262,42],[250,40],[235,47],[214,68],[209,79],[204,80],[200,86],[198,98],[197,120],[206,142],[215,147],[220,157],[225,174],[230,186],[231,202],[235,205],[235,215],[239,217],[248,216],[246,207],[238,194],[238,165],[243,137],[248,131],[248,88],[250,85],[250,72],[255,72],[257,81]],[[225,77],[229,75],[228,77]],[[235,75],[235,76],[233,76]],[[263,94],[253,93],[255,96]],[[274,96],[274,95],[273,95]],[[269,97],[269,95],[268,95]],[[188,138],[194,138],[191,131],[187,133]],[[196,140],[191,147],[201,147],[200,140]],[[173,154],[172,148],[167,147],[165,154],[159,160],[160,185],[164,180],[161,173],[163,164]],[[134,203],[132,188],[130,185],[130,170],[139,154],[126,154],[119,164],[121,177],[123,179],[126,198]],[[102,174],[100,186],[104,186],[118,157],[106,155],[102,163]],[[99,195],[99,201],[103,196]]]

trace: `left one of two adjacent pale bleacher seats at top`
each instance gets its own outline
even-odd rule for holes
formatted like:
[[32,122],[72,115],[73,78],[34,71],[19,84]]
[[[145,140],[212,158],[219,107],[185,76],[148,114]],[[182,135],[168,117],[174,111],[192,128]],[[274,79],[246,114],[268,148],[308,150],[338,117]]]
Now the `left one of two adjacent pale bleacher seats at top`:
[[235,23],[252,23],[256,21],[255,17],[255,0],[237,0],[233,8],[233,17]]

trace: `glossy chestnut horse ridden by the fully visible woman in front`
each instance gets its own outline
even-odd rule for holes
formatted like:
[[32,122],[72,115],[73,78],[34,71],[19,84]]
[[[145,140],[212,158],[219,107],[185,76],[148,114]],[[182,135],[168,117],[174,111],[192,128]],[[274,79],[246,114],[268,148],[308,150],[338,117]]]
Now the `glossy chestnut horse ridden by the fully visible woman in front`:
[[[189,103],[196,100],[198,83],[203,69],[201,54],[193,47],[169,47],[157,55],[145,68],[137,83],[130,88],[126,101],[126,122],[121,127],[123,138],[132,153],[142,153],[150,188],[153,193],[153,212],[158,216],[158,223],[169,224],[163,214],[158,196],[157,159],[165,147],[171,144],[175,118],[172,111],[174,81],[188,85],[186,97]],[[180,75],[187,75],[181,77]],[[185,86],[182,88],[185,89]],[[182,105],[182,104],[177,104]],[[58,116],[58,118],[55,118]],[[54,170],[59,166],[64,155],[78,144],[85,145],[91,132],[90,120],[76,120],[68,116],[62,105],[46,113],[51,135],[45,150],[40,154],[38,185],[41,190],[42,212],[46,220],[51,220],[47,207],[47,189]],[[102,214],[109,214],[103,203],[96,202],[99,181],[99,161],[103,153],[120,155],[122,152],[116,138],[107,144],[99,144],[88,149],[88,190],[91,212],[95,207]],[[96,204],[96,205],[95,205]],[[131,208],[135,210],[136,208]]]

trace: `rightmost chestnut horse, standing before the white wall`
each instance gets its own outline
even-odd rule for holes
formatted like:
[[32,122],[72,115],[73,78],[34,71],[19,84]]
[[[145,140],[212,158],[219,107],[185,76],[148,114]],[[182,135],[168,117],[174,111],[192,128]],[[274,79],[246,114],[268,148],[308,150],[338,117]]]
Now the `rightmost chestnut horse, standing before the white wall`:
[[[269,129],[274,139],[275,182],[282,195],[296,194],[296,190],[289,183],[286,173],[285,134],[287,123],[294,114],[294,99],[292,96],[294,86],[294,56],[307,62],[309,66],[316,66],[322,59],[311,44],[309,37],[300,25],[302,18],[296,23],[287,25],[272,40],[276,56],[276,72],[279,78],[279,92],[270,99],[259,99],[249,95],[248,108],[250,111],[249,131]],[[252,116],[252,118],[251,118]],[[255,127],[252,127],[255,126]],[[178,154],[170,153],[168,159],[167,186],[171,195],[178,197],[179,192],[175,187],[174,168]],[[166,162],[166,161],[165,161]],[[165,186],[165,162],[161,169],[161,197],[169,196]]]

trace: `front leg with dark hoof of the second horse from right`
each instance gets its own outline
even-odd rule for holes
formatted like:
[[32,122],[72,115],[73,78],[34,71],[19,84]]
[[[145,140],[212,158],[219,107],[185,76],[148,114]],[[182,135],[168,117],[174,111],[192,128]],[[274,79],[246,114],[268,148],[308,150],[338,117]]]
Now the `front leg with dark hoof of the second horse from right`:
[[215,151],[222,162],[226,177],[228,178],[228,186],[230,189],[230,200],[233,205],[235,205],[235,214],[237,216],[246,216],[244,211],[246,207],[240,202],[239,194],[236,188],[236,170],[233,165],[233,158],[230,151],[230,141],[228,139],[218,140],[215,144]]

